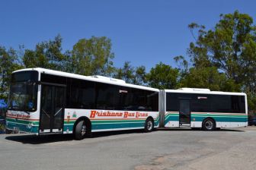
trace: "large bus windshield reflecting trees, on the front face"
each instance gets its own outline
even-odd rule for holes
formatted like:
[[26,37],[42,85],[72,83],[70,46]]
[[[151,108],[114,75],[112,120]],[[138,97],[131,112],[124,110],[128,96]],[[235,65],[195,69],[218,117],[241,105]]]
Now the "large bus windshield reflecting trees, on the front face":
[[9,109],[34,112],[37,110],[37,84],[17,82],[11,84]]

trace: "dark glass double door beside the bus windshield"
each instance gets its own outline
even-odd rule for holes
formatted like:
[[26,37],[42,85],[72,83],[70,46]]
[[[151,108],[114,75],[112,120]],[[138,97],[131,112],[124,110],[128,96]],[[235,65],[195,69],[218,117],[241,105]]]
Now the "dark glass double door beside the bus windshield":
[[65,87],[42,84],[40,103],[40,134],[62,133]]

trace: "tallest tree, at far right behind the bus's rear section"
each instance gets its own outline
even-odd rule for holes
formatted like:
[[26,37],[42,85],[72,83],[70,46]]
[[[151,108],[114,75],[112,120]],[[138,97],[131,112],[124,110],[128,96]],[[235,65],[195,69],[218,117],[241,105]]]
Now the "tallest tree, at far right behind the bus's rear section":
[[226,75],[226,90],[248,93],[249,107],[256,110],[250,102],[254,101],[256,88],[256,27],[252,17],[235,11],[221,14],[213,29],[194,23],[189,28],[195,42],[190,43],[187,52],[194,67],[216,67]]

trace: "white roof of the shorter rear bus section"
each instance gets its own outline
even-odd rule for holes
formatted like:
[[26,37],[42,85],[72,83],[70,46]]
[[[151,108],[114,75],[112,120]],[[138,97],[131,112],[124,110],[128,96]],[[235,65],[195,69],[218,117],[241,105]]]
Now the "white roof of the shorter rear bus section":
[[165,90],[165,92],[166,93],[197,93],[197,94],[219,94],[219,95],[246,96],[245,93],[210,91],[209,89],[197,89],[197,88],[181,88],[178,90]]

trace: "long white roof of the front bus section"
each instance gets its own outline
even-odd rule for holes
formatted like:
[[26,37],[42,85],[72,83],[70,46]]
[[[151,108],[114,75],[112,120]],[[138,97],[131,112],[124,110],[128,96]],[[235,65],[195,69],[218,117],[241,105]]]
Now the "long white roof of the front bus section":
[[63,71],[53,71],[53,70],[46,69],[46,68],[25,68],[25,69],[21,69],[18,71],[13,71],[12,73],[16,73],[19,71],[38,71],[38,72],[44,73],[44,74],[52,74],[52,75],[62,76],[62,77],[72,77],[72,78],[76,78],[76,79],[80,79],[80,80],[89,80],[89,81],[95,81],[95,82],[100,82],[100,83],[109,83],[109,84],[119,85],[119,86],[123,86],[123,87],[133,87],[133,88],[141,89],[141,90],[151,90],[151,91],[159,92],[159,90],[155,89],[155,88],[134,85],[131,83],[126,83],[124,80],[119,80],[119,79],[115,79],[115,78],[111,78],[111,77],[103,77],[103,76],[98,76],[98,75],[83,76],[83,75],[72,74],[72,73],[67,73],[67,72],[63,72]]

